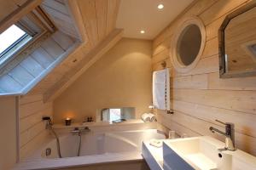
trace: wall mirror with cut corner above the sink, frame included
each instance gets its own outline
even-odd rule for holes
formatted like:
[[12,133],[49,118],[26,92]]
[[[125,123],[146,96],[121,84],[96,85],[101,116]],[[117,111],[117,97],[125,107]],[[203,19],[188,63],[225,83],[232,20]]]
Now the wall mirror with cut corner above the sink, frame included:
[[221,78],[256,76],[256,3],[227,15],[219,29]]

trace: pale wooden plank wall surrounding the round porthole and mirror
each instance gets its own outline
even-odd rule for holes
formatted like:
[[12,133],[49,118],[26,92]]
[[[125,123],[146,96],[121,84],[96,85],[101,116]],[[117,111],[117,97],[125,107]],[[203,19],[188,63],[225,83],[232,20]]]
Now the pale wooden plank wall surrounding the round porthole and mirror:
[[[161,70],[162,61],[171,70],[173,115],[156,111],[163,127],[189,136],[212,135],[208,128],[222,125],[215,122],[234,122],[236,146],[256,156],[256,77],[219,79],[218,28],[226,14],[248,3],[248,0],[199,0],[184,11],[153,42],[153,70]],[[172,34],[184,17],[196,15],[207,31],[207,43],[195,69],[181,74],[174,71],[169,58]]]

